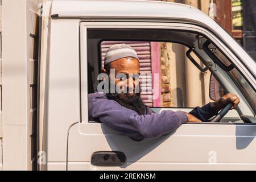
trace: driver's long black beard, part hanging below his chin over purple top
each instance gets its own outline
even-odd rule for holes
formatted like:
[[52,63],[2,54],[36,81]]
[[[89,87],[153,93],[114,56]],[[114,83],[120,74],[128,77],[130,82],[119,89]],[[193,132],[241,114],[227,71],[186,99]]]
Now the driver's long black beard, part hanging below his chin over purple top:
[[109,100],[114,100],[118,102],[123,107],[127,109],[134,110],[139,115],[146,114],[146,106],[144,105],[139,94],[134,94],[133,96],[127,94],[118,94],[118,93],[107,93],[106,97]]

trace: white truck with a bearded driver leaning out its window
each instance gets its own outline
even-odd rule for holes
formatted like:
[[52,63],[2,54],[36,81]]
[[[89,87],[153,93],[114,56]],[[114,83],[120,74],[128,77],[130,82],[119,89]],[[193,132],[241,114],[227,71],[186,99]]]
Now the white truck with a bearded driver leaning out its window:
[[[182,44],[197,68],[241,102],[217,122],[185,123],[141,142],[89,121],[87,98],[98,84],[106,40]],[[255,76],[255,60],[191,6],[2,0],[0,169],[255,170]]]

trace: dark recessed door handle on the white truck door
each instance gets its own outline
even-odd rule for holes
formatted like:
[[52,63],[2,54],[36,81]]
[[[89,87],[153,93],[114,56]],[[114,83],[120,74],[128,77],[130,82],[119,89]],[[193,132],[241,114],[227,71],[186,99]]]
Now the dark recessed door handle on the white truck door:
[[92,154],[90,163],[93,166],[123,166],[127,162],[126,156],[119,151],[98,151]]

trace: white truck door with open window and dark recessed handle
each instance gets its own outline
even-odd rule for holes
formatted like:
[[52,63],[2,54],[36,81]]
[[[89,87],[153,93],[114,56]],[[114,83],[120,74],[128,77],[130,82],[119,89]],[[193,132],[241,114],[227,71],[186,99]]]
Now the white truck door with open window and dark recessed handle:
[[[149,41],[155,37],[155,42],[159,40],[174,42],[179,38],[181,42],[184,42],[183,36],[180,35],[186,36],[187,34],[177,34],[171,30],[175,29],[176,32],[185,30],[191,32],[191,36],[193,36],[193,31],[203,33],[200,27],[179,23],[159,23],[156,26],[153,23],[142,22],[139,24],[122,23],[122,25],[113,22],[97,22],[81,23],[80,28],[81,121],[69,127],[66,169],[256,169],[256,156],[254,155],[256,125],[243,123],[240,119],[241,114],[254,116],[255,113],[248,104],[245,94],[235,86],[234,81],[226,76],[225,71],[218,65],[210,68],[211,72],[217,69],[216,76],[219,76],[218,80],[225,83],[226,91],[236,93],[241,98],[241,104],[237,111],[234,110],[230,114],[230,117],[238,123],[185,123],[170,134],[136,142],[102,123],[88,120],[87,98],[95,88],[93,85],[97,85],[97,75],[101,68],[101,54],[96,50],[100,50],[101,40],[129,41],[137,38]],[[113,28],[116,28],[115,32],[113,32]],[[163,37],[163,32],[157,34],[154,30],[166,30],[166,36]],[[211,41],[222,46],[224,50],[228,49],[207,30],[204,30],[204,34],[207,34]],[[105,35],[109,37],[103,37]],[[147,35],[150,36],[147,37]],[[191,37],[191,39],[193,38],[195,37]],[[229,54],[232,53],[229,52]],[[201,49],[200,56],[204,60],[214,63],[203,49]],[[189,107],[153,109],[159,113],[164,109],[192,110]]]

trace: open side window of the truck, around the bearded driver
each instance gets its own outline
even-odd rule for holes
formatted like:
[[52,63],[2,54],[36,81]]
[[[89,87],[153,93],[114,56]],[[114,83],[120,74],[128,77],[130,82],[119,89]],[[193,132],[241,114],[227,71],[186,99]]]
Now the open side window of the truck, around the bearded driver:
[[[141,98],[156,112],[163,109],[189,112],[193,107],[213,101],[209,94],[210,73],[216,76],[216,84],[222,86],[222,93],[241,94],[232,75],[227,75],[235,67],[225,55],[225,49],[217,49],[199,32],[160,28],[87,28],[86,32],[88,93],[97,91],[100,82],[97,76],[108,48],[116,43],[126,43],[138,53],[140,72],[151,74],[144,77],[146,84],[144,82],[141,88],[146,88],[147,92],[142,93]],[[155,73],[159,74],[158,78]],[[156,84],[158,88],[155,88]],[[158,92],[156,97],[155,92]],[[233,120],[229,118],[225,122],[240,119],[236,110],[230,112]]]

